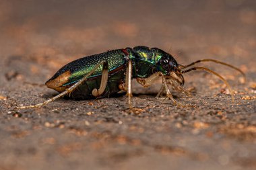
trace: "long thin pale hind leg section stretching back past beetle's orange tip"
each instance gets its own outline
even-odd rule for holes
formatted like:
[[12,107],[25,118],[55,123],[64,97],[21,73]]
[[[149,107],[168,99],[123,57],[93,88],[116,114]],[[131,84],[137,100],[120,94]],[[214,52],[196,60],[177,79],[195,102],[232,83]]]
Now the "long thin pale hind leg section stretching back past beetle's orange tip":
[[36,105],[27,105],[27,106],[21,106],[21,107],[17,107],[16,109],[28,109],[28,108],[40,108],[42,105],[46,105],[47,103],[50,103],[52,101],[55,101],[55,99],[59,99],[65,95],[67,95],[68,93],[71,93],[72,91],[74,91],[79,85],[82,85],[82,83],[84,83],[84,81],[86,81],[86,79],[92,75],[92,73],[94,73],[94,71],[96,71],[96,69],[98,69],[98,67],[100,67],[100,65],[106,63],[105,60],[102,60],[100,63],[98,63],[98,65],[96,65],[94,67],[94,69],[92,69],[87,75],[85,75],[82,79],[80,79],[79,81],[77,81],[77,83],[73,84],[71,87],[69,87],[68,89],[66,89],[65,91],[63,91],[62,93],[59,93],[59,95],[56,95],[55,97],[48,99],[42,103],[38,103]]

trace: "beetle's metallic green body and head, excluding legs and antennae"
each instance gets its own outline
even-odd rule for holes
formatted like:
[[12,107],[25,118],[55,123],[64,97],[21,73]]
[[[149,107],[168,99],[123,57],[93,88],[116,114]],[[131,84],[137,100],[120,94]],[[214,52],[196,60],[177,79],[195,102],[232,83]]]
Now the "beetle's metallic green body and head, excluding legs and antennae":
[[[70,85],[87,75],[102,60],[106,60],[108,63],[108,82],[104,93],[97,97],[109,97],[121,91],[119,85],[125,83],[125,70],[128,60],[131,60],[133,64],[132,78],[147,78],[158,71],[166,75],[173,67],[178,67],[177,61],[163,50],[136,46],[134,48],[110,50],[69,62],[46,82],[46,86],[59,92],[65,91]],[[92,90],[100,87],[102,68],[102,65],[98,67],[82,85],[79,85],[77,89],[69,94],[70,97],[74,99],[94,97]]]

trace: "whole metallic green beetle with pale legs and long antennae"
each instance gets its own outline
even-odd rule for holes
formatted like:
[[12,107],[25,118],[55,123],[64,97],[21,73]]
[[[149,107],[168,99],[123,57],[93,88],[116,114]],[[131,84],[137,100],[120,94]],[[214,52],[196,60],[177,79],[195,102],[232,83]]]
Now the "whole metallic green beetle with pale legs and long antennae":
[[136,79],[140,85],[148,87],[159,77],[162,78],[162,87],[157,97],[165,91],[166,97],[171,99],[174,105],[179,105],[172,97],[168,85],[188,94],[189,92],[183,87],[185,83],[183,74],[195,70],[203,70],[219,77],[230,90],[234,101],[234,93],[221,75],[206,67],[191,67],[199,62],[216,62],[239,71],[245,77],[241,69],[219,60],[202,59],[189,65],[180,65],[171,54],[160,48],[135,46],[108,50],[69,62],[45,83],[47,87],[58,91],[59,95],[42,103],[21,106],[18,109],[38,108],[67,95],[73,99],[110,97],[121,90],[127,91],[129,108],[133,108],[131,79]]

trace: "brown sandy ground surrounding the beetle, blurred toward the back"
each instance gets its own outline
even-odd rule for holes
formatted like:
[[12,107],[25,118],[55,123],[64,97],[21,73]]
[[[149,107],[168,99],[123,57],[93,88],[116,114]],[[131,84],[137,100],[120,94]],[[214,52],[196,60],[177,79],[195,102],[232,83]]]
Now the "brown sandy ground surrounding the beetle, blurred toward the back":
[[[0,169],[256,169],[255,1],[1,1]],[[44,85],[63,65],[110,49],[144,45],[181,64],[215,58],[222,81],[187,73],[191,97],[177,108],[160,88],[133,84],[125,95],[58,99],[13,112],[57,92]]]

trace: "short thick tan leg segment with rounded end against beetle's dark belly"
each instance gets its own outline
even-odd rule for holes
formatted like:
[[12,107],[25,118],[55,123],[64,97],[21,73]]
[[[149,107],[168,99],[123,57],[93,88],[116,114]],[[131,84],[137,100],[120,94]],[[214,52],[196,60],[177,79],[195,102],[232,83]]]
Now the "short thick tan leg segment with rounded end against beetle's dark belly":
[[106,84],[108,83],[108,62],[103,63],[103,70],[102,70],[102,76],[101,76],[101,82],[100,82],[100,88],[99,89],[93,89],[92,95],[94,97],[100,96],[104,90],[106,89]]

